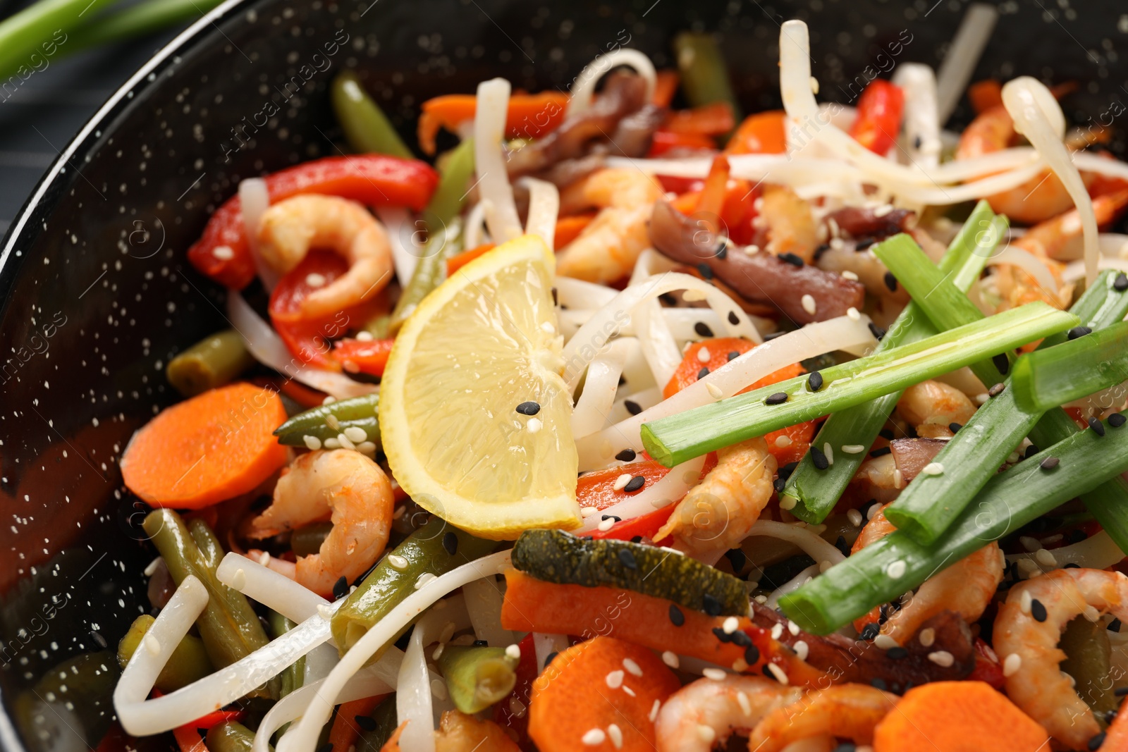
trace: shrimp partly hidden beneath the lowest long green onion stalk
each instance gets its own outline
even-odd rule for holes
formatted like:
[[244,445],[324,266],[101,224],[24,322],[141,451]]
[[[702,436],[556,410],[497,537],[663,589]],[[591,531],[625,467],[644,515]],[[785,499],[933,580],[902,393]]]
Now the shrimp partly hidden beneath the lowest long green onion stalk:
[[[851,548],[851,554],[858,552],[893,530],[896,528],[885,519],[882,507],[862,528]],[[1003,582],[1003,554],[998,543],[992,541],[924,581],[908,603],[901,605],[899,611],[881,625],[881,634],[889,635],[898,645],[904,645],[917,632],[923,622],[941,611],[959,613],[970,623],[982,616],[1001,582]],[[861,631],[866,623],[873,621],[880,621],[879,609],[855,620],[854,627]]]

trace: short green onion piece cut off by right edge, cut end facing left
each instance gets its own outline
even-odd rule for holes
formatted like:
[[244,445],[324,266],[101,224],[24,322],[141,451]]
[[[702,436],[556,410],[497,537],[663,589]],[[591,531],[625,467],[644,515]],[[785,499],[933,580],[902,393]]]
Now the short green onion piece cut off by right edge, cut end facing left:
[[[1089,368],[1086,368],[1089,366]],[[1015,399],[1045,412],[1128,380],[1128,321],[1028,353],[1014,364]]]

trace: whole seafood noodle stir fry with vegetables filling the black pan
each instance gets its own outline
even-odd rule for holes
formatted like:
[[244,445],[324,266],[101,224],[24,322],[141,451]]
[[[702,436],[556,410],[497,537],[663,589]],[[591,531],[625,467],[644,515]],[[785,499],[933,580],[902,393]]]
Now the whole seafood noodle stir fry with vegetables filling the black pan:
[[779,39],[782,110],[686,33],[411,147],[335,79],[354,153],[188,250],[231,328],[121,462],[120,733],[1128,750],[1128,165],[1068,81],[976,82],[957,133],[927,65],[819,104]]

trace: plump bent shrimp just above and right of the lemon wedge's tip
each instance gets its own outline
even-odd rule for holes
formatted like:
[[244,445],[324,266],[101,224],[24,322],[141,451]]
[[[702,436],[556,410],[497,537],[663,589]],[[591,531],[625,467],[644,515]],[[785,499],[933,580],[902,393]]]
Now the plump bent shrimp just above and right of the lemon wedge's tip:
[[[662,186],[636,169],[608,168],[569,193],[600,212],[561,249],[556,273],[601,284],[627,276],[638,254],[650,247],[650,215]],[[567,203],[570,196],[563,198]]]

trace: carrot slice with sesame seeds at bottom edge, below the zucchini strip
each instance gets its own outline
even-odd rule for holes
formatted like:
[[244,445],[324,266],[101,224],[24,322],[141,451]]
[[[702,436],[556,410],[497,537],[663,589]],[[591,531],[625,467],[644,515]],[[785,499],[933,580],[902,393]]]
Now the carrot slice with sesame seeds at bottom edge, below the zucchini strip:
[[529,736],[540,752],[651,752],[653,709],[679,689],[651,651],[596,637],[562,652],[532,682]]

